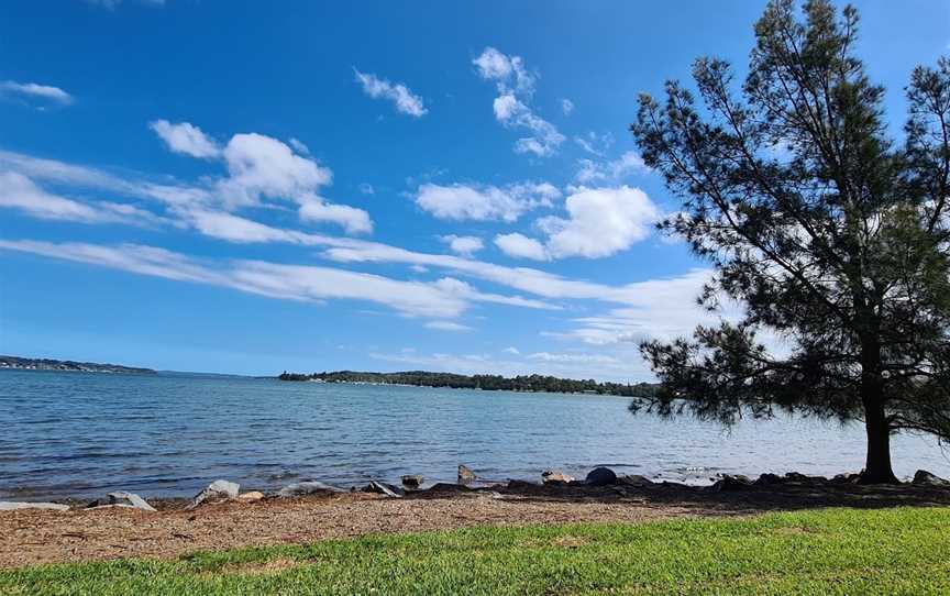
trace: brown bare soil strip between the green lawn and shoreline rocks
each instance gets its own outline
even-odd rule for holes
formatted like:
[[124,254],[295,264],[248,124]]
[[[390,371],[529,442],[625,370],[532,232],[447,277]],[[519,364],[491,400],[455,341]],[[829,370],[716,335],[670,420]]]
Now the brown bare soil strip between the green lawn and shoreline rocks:
[[167,558],[198,550],[484,525],[643,521],[827,506],[950,506],[950,489],[864,487],[828,481],[723,492],[663,484],[542,487],[517,483],[482,490],[440,487],[401,499],[349,493],[255,503],[232,500],[195,510],[185,510],[180,501],[156,505],[158,512],[126,508],[0,511],[0,567]]

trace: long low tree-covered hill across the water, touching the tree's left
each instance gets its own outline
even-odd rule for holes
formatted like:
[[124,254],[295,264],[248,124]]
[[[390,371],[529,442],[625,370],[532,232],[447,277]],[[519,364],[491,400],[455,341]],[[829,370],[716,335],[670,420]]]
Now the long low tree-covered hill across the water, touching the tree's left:
[[402,373],[361,373],[338,371],[335,373],[300,374],[284,372],[280,380],[312,380],[318,383],[367,383],[376,385],[412,385],[417,387],[451,387],[454,389],[484,389],[507,391],[549,391],[557,394],[598,394],[627,397],[651,397],[659,389],[652,383],[599,383],[594,379],[577,380],[543,375],[456,375],[452,373],[428,373],[406,371]]

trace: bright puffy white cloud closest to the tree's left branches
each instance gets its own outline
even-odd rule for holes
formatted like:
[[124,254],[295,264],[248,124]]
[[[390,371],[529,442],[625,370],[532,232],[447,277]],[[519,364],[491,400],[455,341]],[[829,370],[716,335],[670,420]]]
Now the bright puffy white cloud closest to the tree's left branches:
[[553,258],[598,258],[627,250],[650,235],[660,210],[639,188],[576,189],[564,201],[568,217],[548,217],[538,225],[548,234]]

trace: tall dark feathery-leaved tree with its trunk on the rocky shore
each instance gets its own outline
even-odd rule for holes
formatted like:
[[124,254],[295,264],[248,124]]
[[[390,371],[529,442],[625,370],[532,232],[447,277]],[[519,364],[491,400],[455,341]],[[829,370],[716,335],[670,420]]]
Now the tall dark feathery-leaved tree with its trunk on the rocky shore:
[[641,344],[662,386],[631,409],[859,420],[864,481],[895,482],[892,433],[950,438],[950,60],[910,74],[894,139],[858,24],[774,0],[744,81],[702,57],[695,87],[640,97],[633,136],[682,198],[660,227],[712,265],[700,303],[743,316]]

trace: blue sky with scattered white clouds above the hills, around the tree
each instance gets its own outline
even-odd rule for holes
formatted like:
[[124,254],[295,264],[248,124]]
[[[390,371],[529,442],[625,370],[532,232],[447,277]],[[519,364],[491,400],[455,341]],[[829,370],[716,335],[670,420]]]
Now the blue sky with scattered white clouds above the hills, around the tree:
[[[627,126],[751,1],[0,5],[0,353],[649,379],[706,320]],[[946,2],[859,2],[895,134]]]

